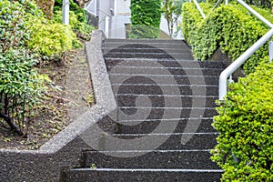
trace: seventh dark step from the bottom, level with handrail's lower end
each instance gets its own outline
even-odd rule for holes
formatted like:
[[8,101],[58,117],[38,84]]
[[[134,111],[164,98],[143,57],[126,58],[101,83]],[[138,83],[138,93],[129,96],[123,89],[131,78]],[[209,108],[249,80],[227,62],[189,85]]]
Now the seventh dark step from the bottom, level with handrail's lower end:
[[190,86],[190,85],[150,85],[137,86],[119,84],[112,86],[114,94],[136,95],[181,95],[181,96],[217,96],[218,86]]

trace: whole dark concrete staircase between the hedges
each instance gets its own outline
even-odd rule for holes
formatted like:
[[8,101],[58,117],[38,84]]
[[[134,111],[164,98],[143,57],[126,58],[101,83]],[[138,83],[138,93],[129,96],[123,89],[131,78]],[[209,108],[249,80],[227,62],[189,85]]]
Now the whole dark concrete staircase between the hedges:
[[219,181],[210,160],[223,62],[198,62],[178,40],[106,39],[102,46],[118,109],[99,123],[109,135],[82,150],[61,181]]

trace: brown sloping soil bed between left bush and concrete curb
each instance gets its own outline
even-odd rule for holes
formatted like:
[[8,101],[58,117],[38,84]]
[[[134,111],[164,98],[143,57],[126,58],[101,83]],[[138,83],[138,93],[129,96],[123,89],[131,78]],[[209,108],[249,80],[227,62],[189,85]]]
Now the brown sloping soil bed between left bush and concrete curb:
[[63,61],[39,67],[49,76],[43,101],[35,106],[25,136],[17,136],[0,119],[0,148],[35,150],[64,129],[95,102],[84,50],[66,52]]

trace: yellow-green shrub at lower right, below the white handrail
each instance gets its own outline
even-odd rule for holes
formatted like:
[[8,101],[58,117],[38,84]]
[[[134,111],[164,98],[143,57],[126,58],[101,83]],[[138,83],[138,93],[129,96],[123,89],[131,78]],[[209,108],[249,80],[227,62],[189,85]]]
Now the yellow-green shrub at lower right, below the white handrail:
[[[267,57],[268,58],[268,57]],[[273,64],[229,86],[217,107],[219,131],[212,159],[222,167],[222,181],[273,181]]]

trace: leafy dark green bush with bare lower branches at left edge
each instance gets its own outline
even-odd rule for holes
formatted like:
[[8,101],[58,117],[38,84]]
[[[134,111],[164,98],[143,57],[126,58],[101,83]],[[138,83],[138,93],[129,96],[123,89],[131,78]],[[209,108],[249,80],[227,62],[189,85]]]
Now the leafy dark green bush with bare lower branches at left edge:
[[44,76],[35,69],[38,60],[26,48],[30,20],[39,15],[32,0],[0,1],[0,117],[19,135],[23,135],[27,114],[45,90]]

